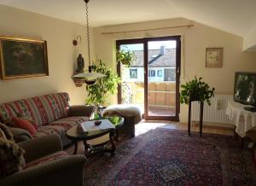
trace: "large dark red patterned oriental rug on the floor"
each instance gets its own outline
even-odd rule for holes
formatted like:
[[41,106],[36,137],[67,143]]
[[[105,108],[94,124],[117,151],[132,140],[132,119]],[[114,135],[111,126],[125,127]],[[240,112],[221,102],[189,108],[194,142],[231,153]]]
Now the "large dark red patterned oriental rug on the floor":
[[86,185],[256,185],[253,152],[234,137],[155,129],[89,160]]

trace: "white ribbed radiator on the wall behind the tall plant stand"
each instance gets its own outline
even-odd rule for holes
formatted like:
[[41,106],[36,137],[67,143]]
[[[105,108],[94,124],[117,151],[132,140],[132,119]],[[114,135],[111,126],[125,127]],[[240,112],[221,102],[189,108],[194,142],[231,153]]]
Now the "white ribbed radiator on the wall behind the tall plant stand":
[[[229,100],[232,100],[231,95],[215,95],[211,98],[211,105],[204,103],[204,123],[212,124],[230,124],[230,120],[226,115],[226,108]],[[199,122],[200,102],[192,102],[191,106],[191,121]]]

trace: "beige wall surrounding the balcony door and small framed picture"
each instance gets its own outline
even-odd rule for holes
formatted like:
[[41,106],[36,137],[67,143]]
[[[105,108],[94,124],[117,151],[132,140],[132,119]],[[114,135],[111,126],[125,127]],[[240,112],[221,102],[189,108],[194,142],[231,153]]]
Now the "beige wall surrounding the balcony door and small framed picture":
[[[194,24],[194,27],[175,28],[147,32],[126,32],[119,34],[104,35],[102,32],[118,32],[148,29],[166,26],[181,26]],[[184,83],[195,75],[203,77],[210,86],[216,88],[216,94],[232,94],[234,84],[234,73],[236,71],[256,72],[256,52],[242,52],[242,38],[236,35],[222,32],[209,26],[185,19],[149,21],[136,24],[120,26],[104,26],[95,28],[96,54],[103,61],[108,61],[110,67],[115,68],[115,40],[128,38],[145,38],[160,36],[183,36],[183,57],[181,69],[181,82]],[[206,68],[206,48],[224,48],[224,66],[222,68]],[[113,96],[116,102],[116,96]],[[181,106],[180,119],[187,122],[188,107]]]

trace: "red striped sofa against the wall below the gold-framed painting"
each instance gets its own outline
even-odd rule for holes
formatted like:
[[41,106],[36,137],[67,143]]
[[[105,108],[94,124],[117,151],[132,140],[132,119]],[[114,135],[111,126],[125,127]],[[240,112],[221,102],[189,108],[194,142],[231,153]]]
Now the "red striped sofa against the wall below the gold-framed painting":
[[20,115],[34,120],[38,130],[34,137],[44,137],[57,134],[61,137],[63,146],[70,143],[66,131],[73,125],[88,121],[96,107],[70,106],[69,96],[66,92],[34,96],[14,102],[0,104],[0,122],[9,125],[14,134],[15,142],[31,139],[28,131],[12,127],[12,119]]

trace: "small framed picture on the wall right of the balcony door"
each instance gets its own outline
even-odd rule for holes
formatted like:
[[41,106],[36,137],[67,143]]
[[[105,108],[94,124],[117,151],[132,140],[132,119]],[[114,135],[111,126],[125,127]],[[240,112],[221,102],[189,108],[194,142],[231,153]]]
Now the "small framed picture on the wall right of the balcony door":
[[222,67],[223,48],[207,48],[206,67]]

